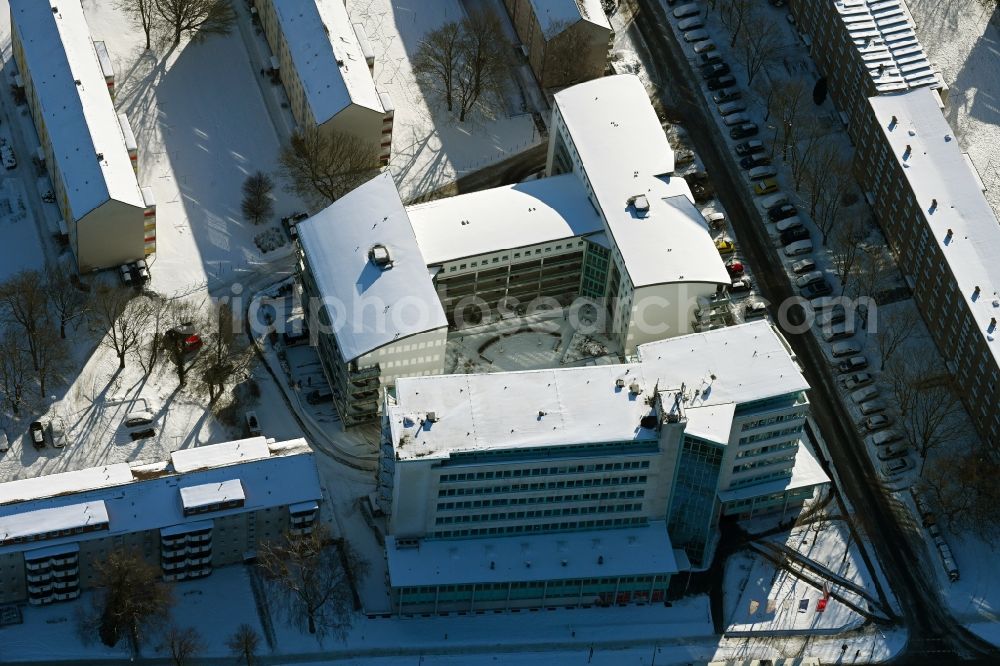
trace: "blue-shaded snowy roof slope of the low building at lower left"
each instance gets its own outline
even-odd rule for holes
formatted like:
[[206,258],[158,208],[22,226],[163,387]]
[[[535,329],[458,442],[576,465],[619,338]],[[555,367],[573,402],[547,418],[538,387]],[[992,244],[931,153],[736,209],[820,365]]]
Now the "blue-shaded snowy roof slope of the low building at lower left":
[[[212,448],[212,447],[204,447]],[[72,474],[69,472],[68,474]],[[43,479],[60,484],[60,474]],[[204,499],[198,487],[218,487],[237,479],[245,494],[242,508],[222,509],[211,514],[184,516],[182,497],[194,492],[195,499]],[[17,482],[14,482],[17,483]],[[3,485],[0,484],[0,488]],[[181,488],[181,485],[184,487]],[[228,487],[228,486],[227,486]],[[56,529],[86,527],[95,520],[108,523],[107,530],[83,532],[37,542],[46,546],[85,541],[108,534],[125,534],[142,530],[161,529],[175,525],[195,525],[206,516],[226,516],[233,513],[279,507],[319,500],[322,491],[312,453],[290,453],[286,449],[268,458],[223,464],[213,469],[200,469],[187,474],[166,474],[153,479],[136,480],[113,487],[96,487],[71,494],[39,495],[30,501],[0,506],[0,537],[5,529],[31,529],[51,532]],[[90,521],[89,523],[86,521]],[[34,526],[34,527],[32,527]],[[43,529],[44,528],[44,529]],[[13,534],[12,532],[10,532]],[[25,550],[34,543],[0,546],[0,553]]]

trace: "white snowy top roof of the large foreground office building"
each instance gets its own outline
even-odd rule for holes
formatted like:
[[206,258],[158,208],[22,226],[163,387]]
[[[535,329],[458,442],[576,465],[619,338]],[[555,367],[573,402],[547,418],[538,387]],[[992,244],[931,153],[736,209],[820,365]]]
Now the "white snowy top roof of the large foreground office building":
[[658,438],[640,426],[653,414],[647,398],[681,385],[692,434],[724,443],[737,404],[809,388],[763,321],[641,345],[638,353],[640,362],[630,364],[400,378],[388,406],[396,453],[413,460],[598,442],[641,446]]

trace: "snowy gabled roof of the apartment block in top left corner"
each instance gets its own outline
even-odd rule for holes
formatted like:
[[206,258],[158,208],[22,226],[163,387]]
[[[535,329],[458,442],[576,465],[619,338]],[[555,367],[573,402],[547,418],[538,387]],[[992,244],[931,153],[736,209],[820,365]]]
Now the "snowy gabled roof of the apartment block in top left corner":
[[73,216],[112,199],[143,208],[80,3],[10,0],[10,13]]

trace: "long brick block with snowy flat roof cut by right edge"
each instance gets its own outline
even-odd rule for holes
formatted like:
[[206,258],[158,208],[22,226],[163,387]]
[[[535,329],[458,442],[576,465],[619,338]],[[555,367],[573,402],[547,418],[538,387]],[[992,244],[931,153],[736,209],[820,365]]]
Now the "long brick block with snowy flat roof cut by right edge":
[[980,436],[1000,443],[1000,226],[933,91],[872,97],[858,178]]

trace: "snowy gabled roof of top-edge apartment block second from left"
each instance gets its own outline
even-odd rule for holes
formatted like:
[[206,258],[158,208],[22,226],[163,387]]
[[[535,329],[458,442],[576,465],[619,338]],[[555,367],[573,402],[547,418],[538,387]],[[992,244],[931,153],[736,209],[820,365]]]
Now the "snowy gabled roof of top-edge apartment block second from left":
[[317,124],[351,104],[384,112],[342,0],[274,0],[271,4]]

